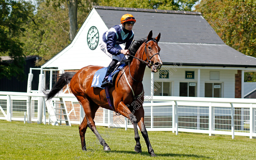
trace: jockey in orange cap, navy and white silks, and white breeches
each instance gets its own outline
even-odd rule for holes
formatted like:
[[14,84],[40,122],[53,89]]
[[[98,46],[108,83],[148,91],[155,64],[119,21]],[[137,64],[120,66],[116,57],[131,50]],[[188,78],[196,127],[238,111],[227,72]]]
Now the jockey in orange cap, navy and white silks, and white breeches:
[[[105,78],[102,81],[102,88],[109,85],[108,75],[114,71],[117,62],[120,62],[123,58],[123,61],[126,60],[125,55],[129,54],[128,48],[134,37],[132,29],[135,22],[133,15],[125,14],[121,18],[122,25],[115,25],[103,33],[102,42],[99,45],[101,50],[112,58],[112,62],[109,64]],[[126,43],[124,50],[120,47],[120,44],[123,43]],[[124,63],[123,61],[120,63]]]

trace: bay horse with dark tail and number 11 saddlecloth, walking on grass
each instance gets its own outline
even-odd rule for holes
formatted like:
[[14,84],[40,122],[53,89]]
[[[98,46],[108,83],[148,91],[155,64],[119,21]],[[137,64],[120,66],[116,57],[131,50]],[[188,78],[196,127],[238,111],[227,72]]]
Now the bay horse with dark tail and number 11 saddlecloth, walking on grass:
[[[135,134],[134,139],[136,141],[134,148],[135,152],[142,152],[140,136],[137,129],[138,124],[141,134],[147,144],[148,153],[151,156],[156,155],[149,142],[148,132],[144,124],[144,108],[142,106],[144,97],[140,96],[140,99],[134,97],[144,92],[142,80],[146,65],[151,68],[151,72],[157,72],[162,66],[162,61],[159,56],[160,48],[158,46],[160,36],[161,34],[159,33],[156,38],[152,38],[152,31],[150,31],[147,39],[135,41],[130,46],[130,55],[132,56],[126,60],[126,63],[129,65],[125,66],[122,71],[119,71],[116,80],[113,83],[113,87],[109,88],[109,94],[115,112],[129,118],[133,124]],[[94,73],[100,68],[103,67],[89,65],[80,69],[78,72],[65,72],[59,77],[52,90],[45,93],[47,100],[49,100],[70,83],[69,86],[72,93],[76,96],[80,105],[83,106],[85,112],[84,120],[79,126],[82,150],[85,151],[86,145],[84,135],[87,127],[92,130],[100,144],[103,145],[103,150],[110,151],[109,146],[101,137],[94,124],[95,113],[99,106],[112,110],[108,105],[105,90],[98,87],[91,87]],[[127,83],[130,84],[130,87]],[[134,101],[136,101],[136,104],[139,104],[139,108],[133,108],[131,104]]]

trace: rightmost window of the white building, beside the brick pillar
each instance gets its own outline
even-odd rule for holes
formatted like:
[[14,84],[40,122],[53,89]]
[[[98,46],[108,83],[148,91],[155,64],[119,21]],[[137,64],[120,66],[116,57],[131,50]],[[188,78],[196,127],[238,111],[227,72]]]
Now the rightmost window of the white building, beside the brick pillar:
[[222,83],[205,83],[204,97],[222,97]]

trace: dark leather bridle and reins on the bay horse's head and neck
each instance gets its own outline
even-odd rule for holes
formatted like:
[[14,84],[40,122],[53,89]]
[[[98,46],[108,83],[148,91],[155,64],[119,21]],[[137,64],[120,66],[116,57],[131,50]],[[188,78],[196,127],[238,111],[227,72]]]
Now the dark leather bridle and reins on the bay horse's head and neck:
[[[157,41],[156,41],[155,39],[151,39],[151,40],[149,40],[148,42],[150,42],[150,41],[154,41],[154,42],[157,43]],[[133,42],[134,42],[134,40],[133,40]],[[133,42],[132,42],[132,44],[133,44]],[[159,55],[159,53],[155,53],[154,55],[152,55],[151,57],[149,57],[148,49],[147,49],[147,44],[148,44],[148,42],[145,43],[145,49],[144,49],[144,52],[146,53],[146,57],[147,57],[147,61],[148,61],[148,62],[147,62],[147,61],[144,61],[144,60],[142,60],[142,59],[140,59],[140,58],[137,58],[137,57],[135,57],[135,56],[133,56],[133,55],[130,55],[130,54],[127,54],[127,55],[132,56],[133,58],[135,58],[135,59],[141,61],[142,63],[146,63],[147,66],[148,66],[148,68],[151,68],[151,66],[154,65],[153,63],[151,63],[151,58],[153,58],[155,55]],[[131,45],[132,45],[132,44],[131,44]],[[131,46],[131,45],[130,45],[130,46]],[[129,47],[129,48],[130,48],[130,47]],[[144,55],[144,52],[143,52],[143,55]],[[142,55],[142,57],[143,57],[143,55]],[[149,58],[148,58],[148,57],[149,57]],[[130,73],[130,76],[131,76],[131,78],[133,79],[133,81],[135,81],[135,82],[142,82],[142,81],[137,81],[137,80],[135,80],[135,79],[132,77],[131,72],[130,72],[130,63],[128,63],[128,65],[129,65],[129,73]]]

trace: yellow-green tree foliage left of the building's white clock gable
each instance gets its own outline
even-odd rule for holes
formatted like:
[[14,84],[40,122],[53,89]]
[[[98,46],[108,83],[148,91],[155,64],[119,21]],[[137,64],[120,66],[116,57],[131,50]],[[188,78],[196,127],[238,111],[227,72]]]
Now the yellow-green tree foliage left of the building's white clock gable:
[[[79,7],[83,9],[78,10],[78,27],[90,11],[85,3]],[[24,54],[41,56],[37,65],[42,65],[70,43],[68,6],[66,2],[57,6],[52,1],[37,1],[36,12],[29,17],[20,38]]]

